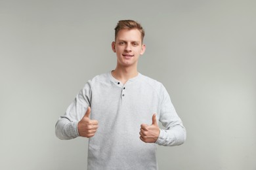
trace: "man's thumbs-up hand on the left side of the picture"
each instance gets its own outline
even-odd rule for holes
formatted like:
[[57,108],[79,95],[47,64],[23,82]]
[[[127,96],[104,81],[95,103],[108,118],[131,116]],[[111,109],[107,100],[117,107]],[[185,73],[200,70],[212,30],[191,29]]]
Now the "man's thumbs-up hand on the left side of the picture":
[[98,121],[89,118],[91,107],[88,107],[85,116],[78,122],[77,129],[81,137],[93,137],[98,129]]

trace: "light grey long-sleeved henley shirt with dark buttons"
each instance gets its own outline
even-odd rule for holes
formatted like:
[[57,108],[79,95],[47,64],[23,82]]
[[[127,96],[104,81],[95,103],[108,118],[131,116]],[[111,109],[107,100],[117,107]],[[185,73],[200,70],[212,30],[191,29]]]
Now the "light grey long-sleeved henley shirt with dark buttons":
[[[77,123],[91,107],[91,119],[98,120],[95,136],[89,138],[87,169],[158,169],[157,144],[184,143],[186,129],[163,84],[138,74],[122,84],[111,72],[95,76],[77,94],[55,131],[59,139],[79,136]],[[152,124],[156,113],[160,129],[156,143],[140,140],[140,125]]]

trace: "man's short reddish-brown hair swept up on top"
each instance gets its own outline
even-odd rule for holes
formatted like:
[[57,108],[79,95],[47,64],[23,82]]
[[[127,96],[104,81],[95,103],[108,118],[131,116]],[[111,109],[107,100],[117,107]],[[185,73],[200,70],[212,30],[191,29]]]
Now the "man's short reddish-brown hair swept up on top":
[[117,25],[115,27],[115,41],[116,41],[117,33],[121,29],[128,29],[128,30],[138,29],[140,31],[141,41],[143,42],[145,31],[144,31],[143,27],[138,22],[135,22],[134,20],[119,20],[119,22],[117,23]]

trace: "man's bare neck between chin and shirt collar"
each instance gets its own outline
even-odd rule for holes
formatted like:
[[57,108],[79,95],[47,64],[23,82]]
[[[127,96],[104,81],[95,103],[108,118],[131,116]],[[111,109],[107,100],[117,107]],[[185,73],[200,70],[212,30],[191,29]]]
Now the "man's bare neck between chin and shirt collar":
[[138,74],[137,67],[119,67],[117,65],[116,69],[112,71],[112,76],[123,84]]

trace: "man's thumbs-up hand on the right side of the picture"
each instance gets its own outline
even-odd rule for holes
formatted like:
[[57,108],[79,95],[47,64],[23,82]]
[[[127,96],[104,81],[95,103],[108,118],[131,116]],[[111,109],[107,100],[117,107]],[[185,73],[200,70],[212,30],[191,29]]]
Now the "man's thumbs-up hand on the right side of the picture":
[[144,143],[155,143],[158,140],[160,129],[158,122],[156,121],[156,114],[152,116],[152,124],[141,124],[140,125],[140,140]]

